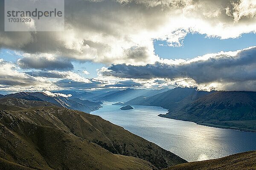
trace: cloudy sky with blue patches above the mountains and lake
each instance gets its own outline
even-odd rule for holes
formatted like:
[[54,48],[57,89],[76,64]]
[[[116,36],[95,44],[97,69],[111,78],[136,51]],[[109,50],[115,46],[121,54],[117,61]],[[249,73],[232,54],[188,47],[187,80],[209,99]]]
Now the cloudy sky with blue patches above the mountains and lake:
[[1,93],[175,86],[256,91],[255,0],[65,5],[64,31],[0,26]]

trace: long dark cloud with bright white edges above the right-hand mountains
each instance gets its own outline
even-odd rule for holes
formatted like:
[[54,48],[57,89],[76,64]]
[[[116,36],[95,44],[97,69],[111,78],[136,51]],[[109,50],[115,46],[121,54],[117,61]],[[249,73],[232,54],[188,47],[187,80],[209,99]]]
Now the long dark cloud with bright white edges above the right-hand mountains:
[[166,78],[173,84],[207,90],[256,91],[256,47],[207,54],[175,64],[112,65],[108,69],[102,68],[99,74],[128,79]]

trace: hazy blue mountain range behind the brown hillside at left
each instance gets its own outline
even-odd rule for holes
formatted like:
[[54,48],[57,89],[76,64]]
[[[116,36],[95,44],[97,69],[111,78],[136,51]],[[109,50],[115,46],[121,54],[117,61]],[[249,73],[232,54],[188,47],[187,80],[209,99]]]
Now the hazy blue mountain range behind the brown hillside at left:
[[18,99],[26,99],[26,100],[35,100],[35,101],[45,101],[50,102],[56,106],[91,112],[95,111],[99,108],[102,108],[100,104],[101,102],[90,102],[88,100],[81,99],[70,99],[62,96],[48,96],[43,92],[20,92],[16,94],[8,94],[5,96],[1,96],[1,98],[18,98]]

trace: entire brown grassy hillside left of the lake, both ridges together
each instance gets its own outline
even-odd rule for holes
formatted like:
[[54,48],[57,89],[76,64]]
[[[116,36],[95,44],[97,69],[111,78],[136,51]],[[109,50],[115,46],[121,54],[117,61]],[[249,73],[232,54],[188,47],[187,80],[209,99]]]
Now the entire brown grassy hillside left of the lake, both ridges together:
[[150,170],[186,162],[99,116],[49,105],[1,99],[1,169]]

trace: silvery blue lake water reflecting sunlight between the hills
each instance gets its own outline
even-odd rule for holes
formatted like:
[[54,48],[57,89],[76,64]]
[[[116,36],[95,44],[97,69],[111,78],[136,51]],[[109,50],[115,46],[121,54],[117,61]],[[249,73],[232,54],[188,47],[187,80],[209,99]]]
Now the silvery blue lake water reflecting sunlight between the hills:
[[103,108],[91,112],[131,133],[175,153],[187,161],[215,159],[234,153],[256,150],[256,133],[220,129],[167,119],[157,116],[167,113],[155,106],[132,106],[121,111],[122,106],[104,103]]

